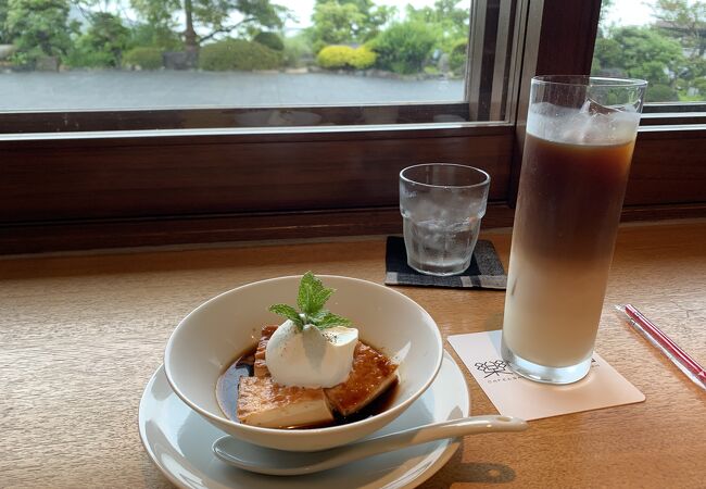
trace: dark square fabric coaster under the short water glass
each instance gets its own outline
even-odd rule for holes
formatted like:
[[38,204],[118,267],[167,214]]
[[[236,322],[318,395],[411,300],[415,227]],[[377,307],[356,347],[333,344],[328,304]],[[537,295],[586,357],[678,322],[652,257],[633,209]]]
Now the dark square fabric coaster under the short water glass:
[[479,288],[505,290],[507,276],[492,242],[479,239],[470,265],[458,275],[436,277],[424,275],[407,265],[404,238],[389,236],[386,250],[387,285],[420,287]]

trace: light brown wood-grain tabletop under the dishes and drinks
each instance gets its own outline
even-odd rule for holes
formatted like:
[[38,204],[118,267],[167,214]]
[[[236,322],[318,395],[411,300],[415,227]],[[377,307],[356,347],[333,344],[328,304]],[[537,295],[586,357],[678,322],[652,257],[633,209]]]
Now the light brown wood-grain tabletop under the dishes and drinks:
[[[509,230],[486,237],[507,265]],[[706,394],[610,308],[633,303],[706,365],[704,242],[703,220],[620,230],[596,350],[645,402],[467,437],[421,487],[703,488]],[[0,260],[0,487],[171,487],[137,415],[179,319],[225,290],[307,269],[381,284],[383,259],[382,238],[360,238]],[[503,292],[398,289],[444,337],[501,327]],[[472,413],[495,413],[465,374]]]

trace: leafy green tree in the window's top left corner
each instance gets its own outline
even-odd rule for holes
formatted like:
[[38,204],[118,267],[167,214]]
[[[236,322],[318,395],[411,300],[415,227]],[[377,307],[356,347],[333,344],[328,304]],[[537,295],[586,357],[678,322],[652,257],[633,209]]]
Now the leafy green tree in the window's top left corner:
[[67,0],[9,0],[5,37],[17,48],[15,59],[34,63],[63,57],[72,46],[76,25],[68,23]]

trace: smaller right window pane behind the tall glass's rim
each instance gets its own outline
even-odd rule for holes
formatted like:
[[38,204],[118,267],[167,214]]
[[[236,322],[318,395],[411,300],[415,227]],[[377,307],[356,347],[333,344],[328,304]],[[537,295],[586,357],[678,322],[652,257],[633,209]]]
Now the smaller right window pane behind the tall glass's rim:
[[592,74],[646,79],[648,103],[706,100],[706,2],[604,0]]

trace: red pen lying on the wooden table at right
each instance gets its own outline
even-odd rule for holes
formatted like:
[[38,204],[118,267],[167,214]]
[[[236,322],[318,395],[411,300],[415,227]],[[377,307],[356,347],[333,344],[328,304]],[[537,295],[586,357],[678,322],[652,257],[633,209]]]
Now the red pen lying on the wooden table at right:
[[706,390],[706,371],[698,362],[689,356],[671,338],[665,335],[661,329],[655,326],[631,304],[617,304],[615,308],[625,314],[638,333],[657,347],[686,377]]

